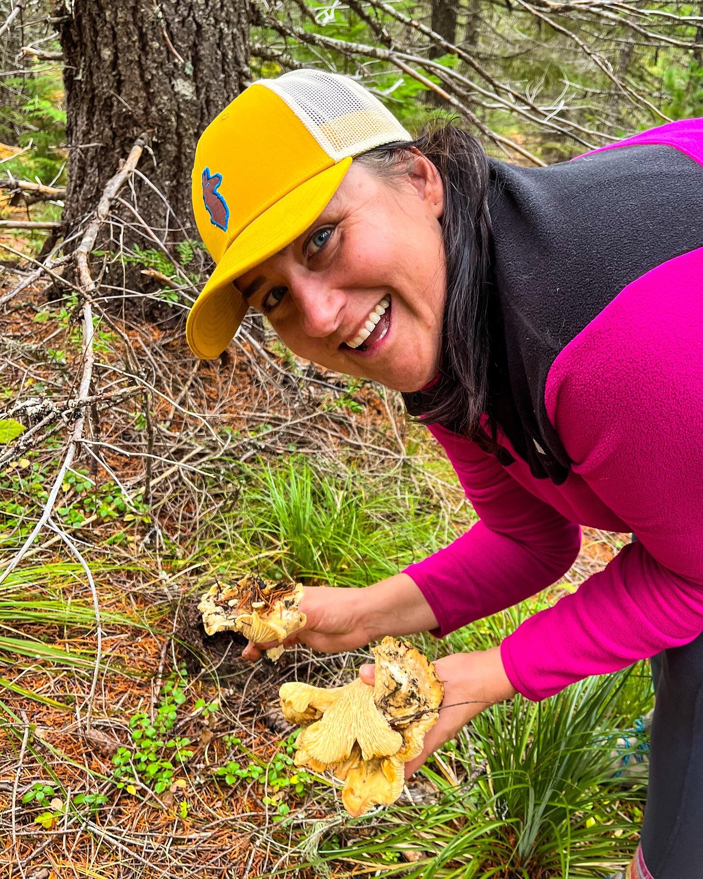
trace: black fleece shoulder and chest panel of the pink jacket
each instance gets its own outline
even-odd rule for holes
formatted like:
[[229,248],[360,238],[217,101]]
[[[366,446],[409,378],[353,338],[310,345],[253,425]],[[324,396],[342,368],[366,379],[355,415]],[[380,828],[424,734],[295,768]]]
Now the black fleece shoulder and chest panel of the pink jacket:
[[509,377],[495,414],[533,476],[562,483],[570,461],[547,418],[549,368],[623,287],[703,246],[703,167],[663,145],[547,168],[489,163]]

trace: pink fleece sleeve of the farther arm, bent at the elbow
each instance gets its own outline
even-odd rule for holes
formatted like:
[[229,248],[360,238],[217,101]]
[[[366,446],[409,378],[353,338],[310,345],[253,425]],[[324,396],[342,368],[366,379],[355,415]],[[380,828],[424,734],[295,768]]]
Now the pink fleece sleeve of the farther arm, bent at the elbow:
[[431,425],[480,521],[409,574],[444,636],[554,583],[571,565],[581,529],[517,483],[493,455]]

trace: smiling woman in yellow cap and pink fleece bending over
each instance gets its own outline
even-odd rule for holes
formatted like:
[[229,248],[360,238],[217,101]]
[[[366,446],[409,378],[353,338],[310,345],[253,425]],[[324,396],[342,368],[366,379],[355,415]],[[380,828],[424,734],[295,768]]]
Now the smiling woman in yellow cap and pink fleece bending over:
[[294,71],[207,128],[193,203],[217,265],[192,350],[219,355],[251,306],[302,357],[401,391],[480,516],[363,598],[306,589],[288,643],[443,636],[554,583],[579,525],[633,531],[500,645],[439,660],[453,707],[408,771],[487,705],[662,653],[630,875],[700,875],[703,120],[525,169],[451,126],[413,141],[352,80]]

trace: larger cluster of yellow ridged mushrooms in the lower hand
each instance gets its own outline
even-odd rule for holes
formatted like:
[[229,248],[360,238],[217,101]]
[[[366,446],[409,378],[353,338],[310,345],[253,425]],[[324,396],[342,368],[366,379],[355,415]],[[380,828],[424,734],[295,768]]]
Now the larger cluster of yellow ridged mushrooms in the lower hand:
[[344,781],[342,802],[354,817],[401,795],[404,765],[422,752],[444,699],[434,665],[409,643],[386,637],[373,653],[373,687],[356,679],[330,690],[287,683],[279,691],[284,716],[302,727],[295,765]]

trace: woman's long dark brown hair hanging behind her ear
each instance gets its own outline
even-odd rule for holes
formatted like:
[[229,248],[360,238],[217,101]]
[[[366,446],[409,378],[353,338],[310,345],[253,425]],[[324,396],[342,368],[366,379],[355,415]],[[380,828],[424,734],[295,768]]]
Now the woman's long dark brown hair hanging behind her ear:
[[[444,123],[426,129],[411,143],[380,146],[355,161],[382,178],[398,177],[412,167],[410,147],[417,147],[437,168],[445,200],[441,219],[446,264],[441,367],[422,418],[483,444],[486,434],[481,416],[489,410],[492,312],[496,308],[490,291],[488,157],[472,134]],[[488,426],[495,441],[496,425],[490,413]]]

